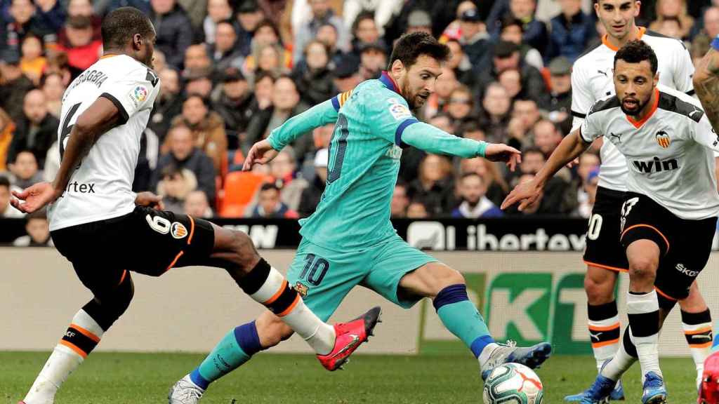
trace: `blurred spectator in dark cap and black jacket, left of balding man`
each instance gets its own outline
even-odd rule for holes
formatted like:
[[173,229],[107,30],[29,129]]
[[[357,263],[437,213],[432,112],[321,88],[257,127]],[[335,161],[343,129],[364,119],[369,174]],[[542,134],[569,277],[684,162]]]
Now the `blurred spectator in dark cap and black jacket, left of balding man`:
[[244,133],[252,117],[255,96],[252,95],[244,75],[237,68],[224,70],[221,80],[221,93],[219,99],[213,103],[214,110],[224,121],[226,132]]

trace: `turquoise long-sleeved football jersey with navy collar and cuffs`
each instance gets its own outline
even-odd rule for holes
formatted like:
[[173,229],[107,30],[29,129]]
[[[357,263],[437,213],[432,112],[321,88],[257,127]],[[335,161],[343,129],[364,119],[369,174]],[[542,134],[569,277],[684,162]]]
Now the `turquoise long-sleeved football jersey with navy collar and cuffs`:
[[335,251],[371,247],[395,235],[390,202],[402,147],[461,157],[483,156],[486,147],[417,121],[386,72],[293,116],[267,140],[281,150],[300,134],[331,122],[327,185],[315,213],[300,221],[300,233]]

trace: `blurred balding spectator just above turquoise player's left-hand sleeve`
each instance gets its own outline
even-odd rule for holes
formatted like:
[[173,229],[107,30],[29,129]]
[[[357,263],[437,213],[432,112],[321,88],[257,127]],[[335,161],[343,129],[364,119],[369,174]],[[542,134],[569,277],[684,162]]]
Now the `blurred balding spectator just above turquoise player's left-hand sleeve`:
[[[258,111],[252,116],[247,126],[247,139],[243,151],[269,136],[273,129],[280,127],[291,117],[307,110],[305,104],[300,103],[300,94],[295,82],[288,76],[282,76],[275,82],[272,106]],[[305,155],[312,149],[312,137],[301,136],[294,142],[297,160],[304,160]]]

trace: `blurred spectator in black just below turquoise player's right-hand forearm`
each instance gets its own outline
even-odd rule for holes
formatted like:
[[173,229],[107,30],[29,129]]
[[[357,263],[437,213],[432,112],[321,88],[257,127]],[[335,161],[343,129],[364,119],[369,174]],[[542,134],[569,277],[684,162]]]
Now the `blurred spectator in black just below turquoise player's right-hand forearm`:
[[421,201],[431,216],[449,214],[455,203],[449,160],[439,155],[424,157],[418,178],[409,185],[409,195],[413,201]]

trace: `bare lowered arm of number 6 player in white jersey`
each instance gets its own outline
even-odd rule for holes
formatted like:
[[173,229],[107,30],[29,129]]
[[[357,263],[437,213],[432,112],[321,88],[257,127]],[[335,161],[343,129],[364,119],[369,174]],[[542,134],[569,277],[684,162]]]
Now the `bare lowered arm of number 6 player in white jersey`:
[[[52,203],[63,195],[83,157],[97,139],[120,123],[122,117],[113,101],[99,97],[78,116],[70,129],[68,145],[63,153],[58,174],[52,183],[37,183],[22,192],[13,191],[12,206],[25,213],[32,213]],[[24,202],[20,202],[24,201]]]

